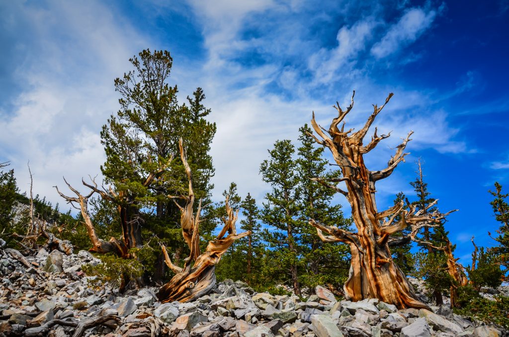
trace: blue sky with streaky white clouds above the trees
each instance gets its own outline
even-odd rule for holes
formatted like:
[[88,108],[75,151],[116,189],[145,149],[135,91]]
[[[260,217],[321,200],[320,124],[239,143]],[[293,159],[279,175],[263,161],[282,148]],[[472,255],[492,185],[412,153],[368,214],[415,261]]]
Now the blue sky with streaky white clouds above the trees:
[[375,122],[392,134],[366,156],[369,168],[415,133],[407,162],[377,186],[379,209],[412,195],[421,157],[439,207],[460,210],[446,226],[461,261],[472,235],[493,243],[487,190],[509,190],[506,0],[0,1],[0,13],[0,161],[24,189],[30,160],[35,191],[53,204],[63,175],[78,186],[100,172],[99,130],[118,109],[113,79],[140,50],[167,49],[180,98],[203,87],[218,126],[214,198],[233,180],[261,202],[259,164],[276,139],[297,139],[312,110],[327,125],[353,89],[347,123],[358,127],[393,92]]

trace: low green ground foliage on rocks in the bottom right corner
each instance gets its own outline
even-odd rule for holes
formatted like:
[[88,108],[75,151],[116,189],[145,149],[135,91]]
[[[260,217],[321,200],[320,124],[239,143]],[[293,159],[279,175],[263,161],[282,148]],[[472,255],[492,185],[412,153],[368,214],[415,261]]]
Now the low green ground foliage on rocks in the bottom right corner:
[[495,300],[480,297],[475,290],[460,287],[461,309],[455,309],[458,315],[468,316],[487,324],[498,324],[504,328],[509,327],[509,297],[495,296]]

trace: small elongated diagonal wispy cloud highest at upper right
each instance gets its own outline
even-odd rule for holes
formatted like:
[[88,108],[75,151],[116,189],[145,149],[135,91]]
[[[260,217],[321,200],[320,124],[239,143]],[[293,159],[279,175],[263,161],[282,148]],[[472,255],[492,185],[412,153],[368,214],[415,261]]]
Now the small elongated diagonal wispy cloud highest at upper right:
[[380,42],[371,49],[376,58],[384,58],[397,52],[400,48],[415,41],[426,31],[437,12],[435,10],[425,11],[421,8],[411,8],[403,14],[400,20],[393,24]]

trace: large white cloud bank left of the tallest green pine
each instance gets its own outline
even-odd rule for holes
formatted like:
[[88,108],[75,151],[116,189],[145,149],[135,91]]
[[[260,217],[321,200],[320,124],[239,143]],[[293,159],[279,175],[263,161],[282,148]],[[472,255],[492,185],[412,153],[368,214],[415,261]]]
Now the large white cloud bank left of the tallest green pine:
[[113,79],[147,39],[98,2],[39,5],[18,3],[11,12],[12,28],[28,23],[28,33],[17,42],[26,52],[15,70],[23,89],[3,111],[0,156],[11,161],[21,191],[30,160],[34,193],[54,205],[63,201],[52,188],[62,176],[79,188],[82,176],[100,173],[100,127],[118,109]]

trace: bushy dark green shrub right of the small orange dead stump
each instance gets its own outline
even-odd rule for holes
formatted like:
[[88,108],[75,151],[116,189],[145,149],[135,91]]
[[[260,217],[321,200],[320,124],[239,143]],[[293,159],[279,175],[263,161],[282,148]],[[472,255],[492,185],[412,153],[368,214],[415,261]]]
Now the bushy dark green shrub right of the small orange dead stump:
[[467,268],[467,270],[469,270],[468,278],[477,290],[484,286],[497,288],[502,284],[504,273],[496,263],[493,253],[489,250],[485,251],[484,247],[479,248],[476,268],[474,270]]

